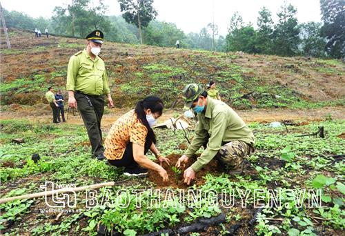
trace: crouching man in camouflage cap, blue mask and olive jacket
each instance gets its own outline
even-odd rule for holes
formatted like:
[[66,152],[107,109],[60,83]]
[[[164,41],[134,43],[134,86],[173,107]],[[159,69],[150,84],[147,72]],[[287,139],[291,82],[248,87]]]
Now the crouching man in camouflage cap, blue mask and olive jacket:
[[184,183],[190,184],[195,174],[213,158],[218,161],[220,171],[230,175],[240,174],[244,157],[254,152],[253,132],[237,113],[223,101],[208,97],[208,93],[197,83],[190,83],[182,91],[187,108],[197,112],[198,123],[195,136],[176,167],[193,158],[204,146],[204,152],[192,166],[184,171]]

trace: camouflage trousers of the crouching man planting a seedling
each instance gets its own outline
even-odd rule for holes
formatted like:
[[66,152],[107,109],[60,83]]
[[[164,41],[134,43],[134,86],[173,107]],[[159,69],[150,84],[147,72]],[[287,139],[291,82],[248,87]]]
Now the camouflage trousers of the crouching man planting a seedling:
[[253,146],[235,140],[221,146],[215,158],[218,160],[219,168],[232,170],[241,166],[244,157],[252,153],[254,153]]

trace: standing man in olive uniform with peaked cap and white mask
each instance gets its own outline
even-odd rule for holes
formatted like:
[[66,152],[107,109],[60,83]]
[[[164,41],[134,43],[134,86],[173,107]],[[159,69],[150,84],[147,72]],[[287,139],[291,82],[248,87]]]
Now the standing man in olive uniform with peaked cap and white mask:
[[92,154],[105,159],[102,145],[101,119],[104,112],[104,97],[113,107],[108,76],[104,61],[98,56],[103,43],[103,32],[92,31],[86,39],[88,46],[70,57],[67,70],[68,106],[78,108],[88,130]]

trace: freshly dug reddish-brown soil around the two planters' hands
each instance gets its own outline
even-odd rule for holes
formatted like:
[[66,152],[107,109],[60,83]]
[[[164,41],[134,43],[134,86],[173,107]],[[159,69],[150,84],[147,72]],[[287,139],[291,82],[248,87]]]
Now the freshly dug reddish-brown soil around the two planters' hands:
[[[150,179],[150,181],[152,181],[157,186],[157,188],[161,188],[161,187],[188,188],[188,185],[184,184],[184,179],[183,179],[184,170],[186,170],[186,168],[191,166],[197,159],[189,158],[186,166],[183,166],[182,168],[180,168],[181,172],[177,174],[172,170],[172,166],[175,166],[177,160],[179,159],[179,157],[181,157],[181,155],[171,154],[166,157],[170,160],[170,166],[164,163],[163,167],[164,169],[166,169],[166,172],[168,173],[168,176],[169,176],[168,182],[164,183],[161,176],[158,175],[158,173],[154,170],[148,170],[148,179]],[[193,184],[196,184],[196,185],[204,184],[205,180],[203,177],[207,173],[214,173],[214,174],[218,173],[216,160],[213,159],[212,161],[210,161],[210,163],[204,166],[204,168],[201,168],[201,170],[197,172],[196,178],[194,179],[194,181],[192,181],[192,183],[190,183],[189,186],[192,186]]]

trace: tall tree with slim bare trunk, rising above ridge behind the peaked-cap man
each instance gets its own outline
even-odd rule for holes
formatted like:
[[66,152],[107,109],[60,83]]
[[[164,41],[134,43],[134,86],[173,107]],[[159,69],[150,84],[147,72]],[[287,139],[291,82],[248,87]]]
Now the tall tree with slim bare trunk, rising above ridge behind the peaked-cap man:
[[156,18],[157,11],[153,8],[153,0],[118,0],[122,17],[128,23],[134,23],[139,30],[140,43],[143,43],[141,28],[147,27],[148,23]]

